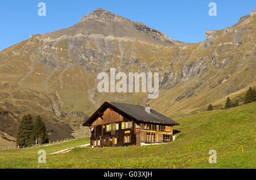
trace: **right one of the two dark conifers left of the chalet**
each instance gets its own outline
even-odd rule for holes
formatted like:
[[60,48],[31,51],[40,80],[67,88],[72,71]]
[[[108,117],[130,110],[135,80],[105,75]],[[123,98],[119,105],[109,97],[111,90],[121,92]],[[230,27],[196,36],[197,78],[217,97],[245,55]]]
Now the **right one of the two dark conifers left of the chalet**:
[[34,139],[36,144],[44,144],[49,142],[48,133],[46,131],[46,125],[42,121],[40,115],[36,117],[34,125]]

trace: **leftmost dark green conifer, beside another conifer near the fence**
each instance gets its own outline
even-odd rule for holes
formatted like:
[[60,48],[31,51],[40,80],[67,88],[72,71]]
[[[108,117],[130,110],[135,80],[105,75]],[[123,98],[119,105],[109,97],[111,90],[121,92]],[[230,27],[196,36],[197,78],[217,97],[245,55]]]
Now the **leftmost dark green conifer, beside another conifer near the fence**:
[[30,114],[24,114],[19,124],[16,145],[27,147],[34,143],[33,137],[33,120]]

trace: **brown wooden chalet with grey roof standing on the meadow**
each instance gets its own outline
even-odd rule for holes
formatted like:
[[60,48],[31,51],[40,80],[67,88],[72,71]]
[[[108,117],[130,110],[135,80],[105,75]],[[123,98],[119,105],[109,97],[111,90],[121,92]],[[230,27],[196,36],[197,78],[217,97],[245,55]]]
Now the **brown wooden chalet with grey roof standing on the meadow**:
[[104,102],[82,126],[91,130],[90,145],[117,147],[172,141],[174,120],[150,109],[119,102]]

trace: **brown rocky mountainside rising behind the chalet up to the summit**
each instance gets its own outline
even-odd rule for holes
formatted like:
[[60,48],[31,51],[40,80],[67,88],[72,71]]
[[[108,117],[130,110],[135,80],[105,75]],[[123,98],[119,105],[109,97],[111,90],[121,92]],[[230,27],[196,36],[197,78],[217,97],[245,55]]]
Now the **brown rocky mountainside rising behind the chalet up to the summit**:
[[[11,101],[16,116],[37,107],[36,112],[73,129],[106,100],[147,102],[166,115],[201,110],[255,84],[255,16],[253,10],[232,27],[207,31],[204,42],[187,44],[98,8],[72,27],[33,35],[0,52],[0,82],[20,88],[19,101],[38,93],[34,105],[20,105],[6,94],[8,89],[1,90],[1,106]],[[159,72],[159,97],[99,93],[97,74],[112,67],[126,73]]]

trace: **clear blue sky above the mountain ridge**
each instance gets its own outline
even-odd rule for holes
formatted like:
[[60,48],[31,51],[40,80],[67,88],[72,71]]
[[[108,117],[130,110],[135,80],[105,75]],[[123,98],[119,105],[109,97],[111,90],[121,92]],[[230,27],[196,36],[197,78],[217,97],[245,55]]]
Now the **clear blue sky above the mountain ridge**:
[[[46,16],[38,16],[38,3],[46,3]],[[217,5],[217,16],[209,16],[210,2]],[[158,29],[174,40],[199,42],[205,31],[218,30],[251,14],[255,0],[1,0],[0,50],[28,39],[31,35],[70,27],[94,11],[104,8],[133,21]]]

